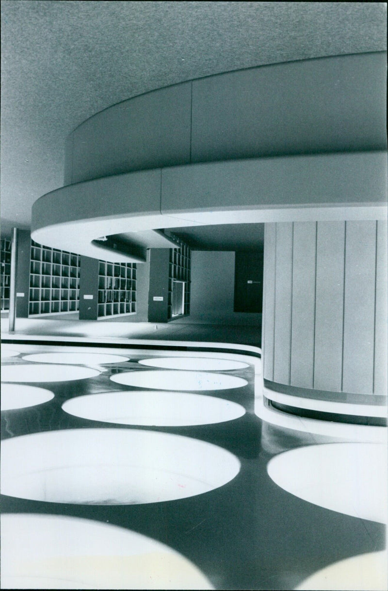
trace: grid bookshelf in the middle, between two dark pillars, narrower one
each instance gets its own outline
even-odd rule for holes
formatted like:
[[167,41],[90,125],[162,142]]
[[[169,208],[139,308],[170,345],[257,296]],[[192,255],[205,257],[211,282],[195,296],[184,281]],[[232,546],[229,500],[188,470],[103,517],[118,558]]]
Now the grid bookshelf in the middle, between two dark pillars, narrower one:
[[97,317],[136,313],[136,263],[99,261]]

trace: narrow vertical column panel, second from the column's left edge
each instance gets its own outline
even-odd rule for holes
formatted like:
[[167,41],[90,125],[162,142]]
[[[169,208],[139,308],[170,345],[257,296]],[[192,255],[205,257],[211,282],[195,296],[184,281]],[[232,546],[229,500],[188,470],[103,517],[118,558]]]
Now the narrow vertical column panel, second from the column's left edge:
[[291,371],[292,222],[276,225],[273,380],[289,384]]

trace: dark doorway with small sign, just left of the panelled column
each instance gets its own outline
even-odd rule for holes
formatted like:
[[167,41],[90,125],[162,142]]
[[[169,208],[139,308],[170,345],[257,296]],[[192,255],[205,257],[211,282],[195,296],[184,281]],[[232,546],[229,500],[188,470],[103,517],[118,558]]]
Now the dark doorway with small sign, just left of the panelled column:
[[263,252],[236,252],[234,311],[263,311]]

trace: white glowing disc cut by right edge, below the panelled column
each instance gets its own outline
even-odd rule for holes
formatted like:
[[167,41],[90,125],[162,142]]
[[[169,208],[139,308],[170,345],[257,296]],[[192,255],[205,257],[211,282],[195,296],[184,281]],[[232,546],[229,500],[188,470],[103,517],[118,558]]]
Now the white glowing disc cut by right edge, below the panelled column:
[[273,457],[267,471],[285,491],[345,515],[386,522],[387,450],[379,443],[330,443]]

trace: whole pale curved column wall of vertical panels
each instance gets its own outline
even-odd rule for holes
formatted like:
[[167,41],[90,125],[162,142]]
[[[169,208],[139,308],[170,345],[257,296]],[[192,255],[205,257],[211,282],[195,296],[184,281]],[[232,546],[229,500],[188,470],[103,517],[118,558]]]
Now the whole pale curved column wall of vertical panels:
[[387,223],[271,223],[264,251],[264,377],[387,394]]

